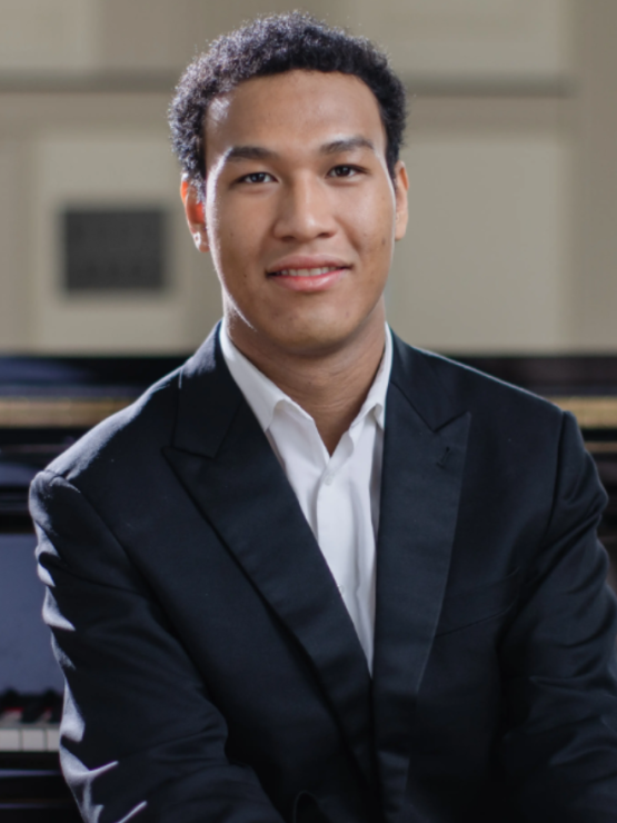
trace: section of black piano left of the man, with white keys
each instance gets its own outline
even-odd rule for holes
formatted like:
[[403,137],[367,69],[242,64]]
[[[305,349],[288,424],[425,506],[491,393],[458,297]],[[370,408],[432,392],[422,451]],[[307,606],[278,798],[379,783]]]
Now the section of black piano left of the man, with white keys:
[[28,487],[185,358],[0,357],[0,820],[78,823],[58,762],[62,677],[41,618]]

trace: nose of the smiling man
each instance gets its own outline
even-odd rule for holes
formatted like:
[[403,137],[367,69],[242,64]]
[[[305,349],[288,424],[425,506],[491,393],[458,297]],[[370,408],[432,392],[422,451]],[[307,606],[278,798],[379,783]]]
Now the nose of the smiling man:
[[308,242],[329,237],[336,221],[324,181],[305,175],[288,182],[281,191],[275,235],[280,240]]

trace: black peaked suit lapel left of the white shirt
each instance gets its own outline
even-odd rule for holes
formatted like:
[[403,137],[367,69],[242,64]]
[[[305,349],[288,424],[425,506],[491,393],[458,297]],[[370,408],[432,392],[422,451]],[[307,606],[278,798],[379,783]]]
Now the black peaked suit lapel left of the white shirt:
[[181,377],[172,468],[300,643],[369,783],[370,676],[354,625],[285,474],[232,380],[216,333]]

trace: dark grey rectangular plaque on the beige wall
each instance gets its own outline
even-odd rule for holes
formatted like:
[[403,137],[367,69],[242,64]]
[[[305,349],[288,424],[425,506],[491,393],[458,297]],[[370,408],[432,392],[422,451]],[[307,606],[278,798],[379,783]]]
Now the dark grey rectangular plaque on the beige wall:
[[165,286],[166,235],[162,209],[67,209],[66,289],[159,291]]

